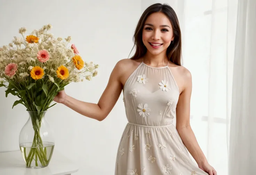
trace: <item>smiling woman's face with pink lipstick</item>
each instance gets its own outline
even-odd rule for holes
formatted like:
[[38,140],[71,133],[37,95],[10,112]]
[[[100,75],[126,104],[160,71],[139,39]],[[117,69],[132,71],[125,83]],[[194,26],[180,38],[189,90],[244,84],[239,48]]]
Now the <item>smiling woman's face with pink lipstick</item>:
[[147,17],[142,32],[142,41],[152,55],[166,52],[174,39],[170,20],[162,12]]

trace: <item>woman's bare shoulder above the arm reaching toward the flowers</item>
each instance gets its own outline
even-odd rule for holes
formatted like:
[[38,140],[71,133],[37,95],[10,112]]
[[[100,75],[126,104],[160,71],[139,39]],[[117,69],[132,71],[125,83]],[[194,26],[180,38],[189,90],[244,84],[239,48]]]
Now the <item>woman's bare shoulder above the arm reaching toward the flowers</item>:
[[141,64],[141,59],[121,59],[115,65],[115,73],[119,75],[122,85],[125,85],[128,77],[134,72],[134,70]]

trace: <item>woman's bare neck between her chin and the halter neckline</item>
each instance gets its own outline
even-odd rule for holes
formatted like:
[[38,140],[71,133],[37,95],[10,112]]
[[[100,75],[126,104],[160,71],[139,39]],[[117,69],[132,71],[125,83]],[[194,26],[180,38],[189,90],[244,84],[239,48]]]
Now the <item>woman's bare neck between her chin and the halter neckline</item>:
[[143,57],[143,62],[145,64],[152,65],[154,67],[157,66],[166,66],[169,59],[166,56],[166,52],[162,52],[158,55],[152,55],[150,52],[147,52]]

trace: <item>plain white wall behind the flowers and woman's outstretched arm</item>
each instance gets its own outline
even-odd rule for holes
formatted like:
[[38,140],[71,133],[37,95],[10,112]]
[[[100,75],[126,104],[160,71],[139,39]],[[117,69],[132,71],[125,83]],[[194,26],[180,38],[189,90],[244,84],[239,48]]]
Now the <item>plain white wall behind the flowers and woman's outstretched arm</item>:
[[[80,55],[99,64],[92,81],[72,83],[66,93],[79,100],[97,103],[118,60],[127,58],[133,32],[141,15],[138,0],[0,0],[0,45],[28,31],[52,24],[56,37],[72,36]],[[18,135],[28,115],[22,105],[11,109],[15,97],[5,97],[0,88],[0,152],[18,150]],[[56,150],[78,162],[79,174],[114,174],[115,156],[127,123],[122,94],[110,115],[98,122],[57,104],[46,115],[55,131]]]

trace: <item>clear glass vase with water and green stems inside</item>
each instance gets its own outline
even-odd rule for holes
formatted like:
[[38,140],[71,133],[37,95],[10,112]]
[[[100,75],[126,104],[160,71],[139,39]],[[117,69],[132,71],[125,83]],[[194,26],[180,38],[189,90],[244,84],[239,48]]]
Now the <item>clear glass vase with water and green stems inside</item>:
[[19,148],[27,168],[49,165],[54,150],[54,133],[45,114],[47,111],[28,111],[29,119],[19,133]]

